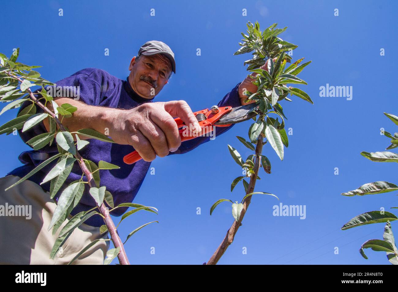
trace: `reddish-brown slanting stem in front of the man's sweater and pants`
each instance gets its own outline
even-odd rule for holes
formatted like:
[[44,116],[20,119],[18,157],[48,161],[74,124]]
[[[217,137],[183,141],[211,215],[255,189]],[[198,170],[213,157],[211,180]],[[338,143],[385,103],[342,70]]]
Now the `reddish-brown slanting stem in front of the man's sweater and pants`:
[[[20,77],[13,75],[10,72],[6,72],[8,75],[12,76],[12,77],[16,77],[18,79],[18,81],[20,81],[22,83],[22,80]],[[29,93],[30,98],[38,105],[40,106],[45,112],[47,112],[48,114],[50,114],[54,120],[55,123],[57,124],[57,126],[59,127],[59,129],[61,131],[66,131],[65,127],[62,125],[62,123],[60,122],[60,120],[57,118],[57,116],[55,115],[55,113],[51,112],[51,110],[49,110],[47,108],[47,106],[44,106],[44,104],[42,104],[33,94],[33,92],[31,91],[30,88],[27,89],[27,92]],[[92,173],[90,172],[90,170],[88,170],[86,163],[84,163],[82,156],[80,155],[80,153],[77,151],[76,149],[76,155],[74,155],[74,157],[76,157],[77,161],[79,162],[79,166],[82,169],[82,172],[86,175],[87,177],[87,181],[88,181],[88,185],[90,186],[90,188],[96,187],[98,188],[98,186],[96,185],[95,181],[94,181],[94,177],[92,175]],[[119,263],[121,265],[130,265],[129,259],[127,258],[127,254],[126,251],[124,249],[123,246],[123,242],[121,241],[119,234],[117,233],[117,229],[115,227],[115,224],[113,223],[113,220],[111,218],[111,215],[109,214],[109,209],[105,206],[104,203],[101,204],[101,206],[99,206],[97,204],[97,208],[98,210],[100,210],[101,215],[104,217],[104,222],[106,227],[108,228],[109,234],[111,234],[111,240],[113,242],[113,245],[115,246],[115,248],[120,248],[120,252],[117,255],[117,258],[119,259]]]

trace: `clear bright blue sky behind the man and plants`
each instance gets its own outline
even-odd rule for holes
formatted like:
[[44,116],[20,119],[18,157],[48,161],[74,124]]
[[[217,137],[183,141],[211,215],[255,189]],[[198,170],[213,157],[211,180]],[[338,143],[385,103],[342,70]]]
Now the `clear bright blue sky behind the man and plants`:
[[[280,161],[269,145],[264,154],[272,174],[262,170],[257,195],[220,264],[389,264],[382,252],[358,250],[368,239],[382,238],[384,224],[341,231],[352,217],[366,211],[398,206],[397,192],[364,197],[344,197],[341,192],[378,180],[398,183],[396,165],[371,162],[361,151],[383,151],[388,138],[380,128],[397,131],[383,112],[398,114],[395,96],[397,47],[395,1],[21,1],[3,3],[4,11],[18,11],[23,21],[4,21],[0,52],[10,55],[20,47],[20,62],[40,65],[51,81],[87,67],[101,68],[125,79],[131,58],[149,40],[167,43],[176,55],[176,72],[154,101],[183,99],[193,111],[217,104],[247,74],[244,60],[233,56],[240,47],[240,32],[247,21],[288,26],[280,37],[298,45],[293,60],[312,60],[300,77],[300,86],[314,105],[292,97],[282,102],[293,128],[289,147]],[[23,9],[21,9],[23,5]],[[63,16],[58,15],[59,8]],[[150,16],[150,9],[155,16]],[[242,9],[247,16],[242,16]],[[334,9],[339,16],[334,16]],[[109,56],[104,49],[109,48]],[[201,56],[196,49],[201,49]],[[380,56],[380,48],[385,56]],[[320,86],[352,86],[353,98],[320,97]],[[16,110],[2,116],[1,124]],[[230,144],[245,158],[252,154],[236,139],[247,137],[250,122],[237,124],[214,141],[190,153],[157,158],[135,203],[154,206],[159,215],[139,212],[124,220],[124,239],[136,227],[153,220],[126,243],[134,264],[201,264],[211,257],[230,228],[229,203],[211,205],[220,198],[240,201],[241,175],[228,152]],[[1,135],[0,175],[20,166],[18,155],[30,149],[18,136]],[[394,152],[394,150],[393,150]],[[125,155],[123,153],[121,155]],[[339,175],[334,175],[334,168]],[[274,217],[273,205],[306,205],[306,219]],[[197,215],[197,207],[201,215]],[[394,210],[394,209],[392,209]],[[395,209],[396,210],[396,209]],[[393,211],[393,213],[396,211]],[[118,219],[115,219],[118,222]],[[398,234],[398,225],[392,223]],[[396,235],[398,236],[398,235]],[[155,254],[150,253],[151,247]],[[242,254],[242,248],[247,254]],[[334,254],[334,248],[339,254]],[[115,263],[116,261],[114,261]]]

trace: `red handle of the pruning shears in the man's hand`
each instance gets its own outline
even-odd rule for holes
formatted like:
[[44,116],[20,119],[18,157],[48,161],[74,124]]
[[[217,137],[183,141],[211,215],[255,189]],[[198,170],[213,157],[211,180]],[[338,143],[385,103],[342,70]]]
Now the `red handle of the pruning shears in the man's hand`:
[[[203,114],[207,118],[206,120],[198,120],[199,126],[201,126],[201,128],[202,128],[200,136],[205,135],[205,134],[209,133],[210,131],[213,131],[213,127],[214,127],[213,123],[216,122],[217,120],[219,120],[219,118],[222,115],[226,114],[227,112],[230,112],[231,109],[232,109],[232,107],[226,106],[226,107],[220,108],[219,112],[216,114],[212,114],[207,108],[204,110],[199,110],[198,112],[194,112],[195,116],[197,114]],[[185,123],[180,118],[175,118],[174,121],[176,122],[178,128],[183,127],[182,129],[178,130],[179,136],[181,137],[181,142],[199,137],[199,135],[193,135],[193,133],[191,132],[191,129],[189,129],[188,126],[186,126]],[[230,124],[223,125],[223,126],[230,126]],[[139,161],[140,159],[142,159],[142,157],[139,155],[139,153],[137,151],[133,151],[133,152],[125,155],[125,157],[123,157],[123,161],[126,164],[133,164],[133,163]]]

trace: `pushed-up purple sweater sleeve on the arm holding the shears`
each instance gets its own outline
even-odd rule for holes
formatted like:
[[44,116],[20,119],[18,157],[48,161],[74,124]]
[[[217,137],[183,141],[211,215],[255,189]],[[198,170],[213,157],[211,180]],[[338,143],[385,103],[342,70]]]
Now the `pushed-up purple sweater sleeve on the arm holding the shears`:
[[[58,81],[55,83],[56,87],[45,87],[45,89],[47,90],[47,93],[51,94],[53,97],[70,97],[71,99],[82,101],[86,104],[99,105],[104,98],[100,84],[103,84],[104,79],[106,80],[105,73],[106,72],[103,70],[86,68]],[[41,98],[40,94],[36,94],[37,91],[34,93],[36,98]],[[23,102],[18,113],[20,113],[21,110],[30,104],[31,101]],[[44,110],[37,104],[35,106],[36,113],[44,112]],[[40,122],[25,132],[18,130],[18,133],[20,134],[22,141],[26,143],[29,139],[39,134],[47,133],[47,130],[43,122]],[[51,146],[46,145],[45,147],[39,149],[39,151],[45,153],[57,152],[58,150],[55,139]]]

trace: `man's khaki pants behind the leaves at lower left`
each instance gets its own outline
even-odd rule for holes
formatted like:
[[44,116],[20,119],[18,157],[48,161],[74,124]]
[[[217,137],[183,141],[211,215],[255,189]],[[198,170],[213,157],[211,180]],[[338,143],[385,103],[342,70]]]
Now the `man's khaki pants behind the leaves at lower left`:
[[[108,232],[101,235],[99,227],[83,223],[74,229],[54,259],[50,259],[51,249],[60,230],[72,216],[69,215],[55,235],[52,234],[52,229],[47,231],[56,203],[50,199],[49,192],[30,180],[4,191],[19,179],[14,175],[0,178],[0,207],[2,205],[5,208],[6,203],[8,206],[31,206],[31,218],[0,216],[0,264],[63,265],[69,263],[93,240],[108,238]],[[109,241],[97,242],[73,264],[102,265],[108,248]]]

